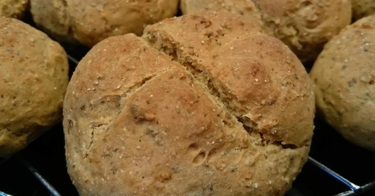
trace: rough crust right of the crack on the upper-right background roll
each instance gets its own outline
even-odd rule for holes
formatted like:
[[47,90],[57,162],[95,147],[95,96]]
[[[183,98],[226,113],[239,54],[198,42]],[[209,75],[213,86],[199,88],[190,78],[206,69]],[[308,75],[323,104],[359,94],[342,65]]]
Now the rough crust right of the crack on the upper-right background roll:
[[351,22],[350,0],[253,1],[266,26],[302,61],[315,60],[324,44]]

